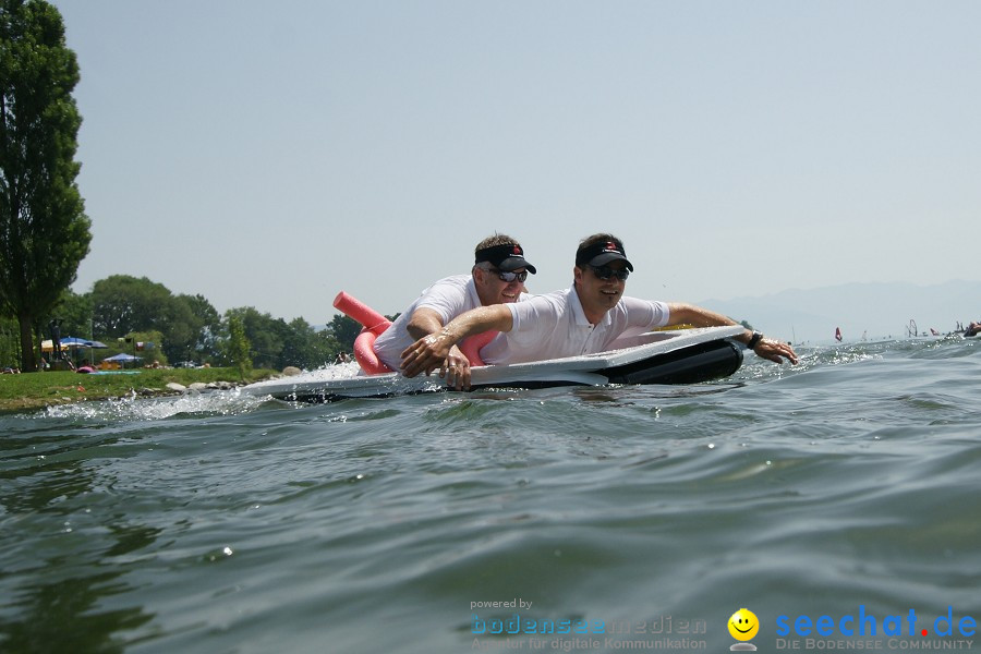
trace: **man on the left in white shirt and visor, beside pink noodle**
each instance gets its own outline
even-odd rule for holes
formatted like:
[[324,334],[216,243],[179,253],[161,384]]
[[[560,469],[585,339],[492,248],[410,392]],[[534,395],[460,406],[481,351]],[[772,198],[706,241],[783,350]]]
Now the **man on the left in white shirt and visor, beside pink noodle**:
[[[524,258],[521,244],[506,234],[477,243],[470,275],[446,277],[423,290],[409,308],[375,340],[375,354],[399,370],[402,351],[413,341],[436,334],[462,313],[480,306],[512,303],[526,295],[524,280],[535,267]],[[470,386],[470,361],[456,343],[444,353],[451,365],[450,383]]]

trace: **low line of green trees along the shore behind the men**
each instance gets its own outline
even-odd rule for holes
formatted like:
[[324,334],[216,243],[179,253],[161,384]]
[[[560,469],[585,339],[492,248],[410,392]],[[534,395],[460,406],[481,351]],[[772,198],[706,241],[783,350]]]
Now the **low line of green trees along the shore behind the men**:
[[[57,327],[68,337],[97,341],[106,348],[66,350],[73,363],[96,366],[118,353],[140,358],[137,365],[168,366],[190,362],[213,367],[304,370],[332,363],[350,352],[361,325],[335,315],[323,328],[303,318],[286,322],[254,307],[225,314],[202,295],[171,293],[146,277],[114,275],[93,284],[88,293],[62,291],[58,303],[39,320],[33,337],[47,363],[59,356],[41,351]],[[17,323],[0,318],[0,366],[21,368]]]

